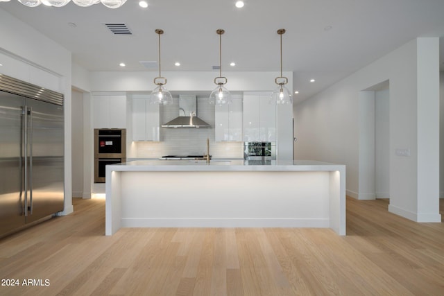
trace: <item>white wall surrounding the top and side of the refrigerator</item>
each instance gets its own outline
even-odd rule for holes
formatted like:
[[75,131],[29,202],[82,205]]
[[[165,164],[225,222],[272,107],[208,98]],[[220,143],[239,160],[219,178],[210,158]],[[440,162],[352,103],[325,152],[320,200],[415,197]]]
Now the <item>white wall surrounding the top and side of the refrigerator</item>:
[[[65,95],[65,209],[71,199],[71,53],[31,26],[0,9],[0,67],[8,76],[42,85]],[[3,64],[3,61],[1,62]],[[56,80],[54,80],[56,79]],[[57,82],[53,82],[57,81]]]

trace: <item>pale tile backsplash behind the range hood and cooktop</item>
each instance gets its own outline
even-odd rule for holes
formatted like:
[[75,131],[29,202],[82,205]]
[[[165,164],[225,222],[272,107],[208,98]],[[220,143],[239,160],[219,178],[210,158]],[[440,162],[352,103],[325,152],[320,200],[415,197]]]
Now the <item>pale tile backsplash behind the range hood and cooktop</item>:
[[[179,98],[173,105],[160,107],[160,121],[166,123],[179,114]],[[210,123],[212,128],[160,128],[160,142],[140,141],[131,143],[133,157],[158,158],[162,155],[203,155],[207,138],[210,139],[212,157],[244,157],[243,142],[214,141],[214,105],[205,96],[197,96],[197,115]],[[134,155],[135,154],[135,155]]]

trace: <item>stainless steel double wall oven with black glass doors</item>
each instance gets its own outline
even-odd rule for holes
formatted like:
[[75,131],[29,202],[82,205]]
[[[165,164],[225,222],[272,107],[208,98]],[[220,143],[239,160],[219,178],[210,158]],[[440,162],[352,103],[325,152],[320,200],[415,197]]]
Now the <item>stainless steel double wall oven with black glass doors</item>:
[[126,130],[94,129],[94,182],[105,183],[107,164],[126,162]]

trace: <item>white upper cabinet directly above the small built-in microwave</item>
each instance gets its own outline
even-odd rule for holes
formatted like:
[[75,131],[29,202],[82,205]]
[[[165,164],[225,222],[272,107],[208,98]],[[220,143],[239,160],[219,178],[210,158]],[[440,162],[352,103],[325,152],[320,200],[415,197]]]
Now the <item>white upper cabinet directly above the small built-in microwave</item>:
[[244,141],[276,141],[276,106],[269,92],[244,93]]

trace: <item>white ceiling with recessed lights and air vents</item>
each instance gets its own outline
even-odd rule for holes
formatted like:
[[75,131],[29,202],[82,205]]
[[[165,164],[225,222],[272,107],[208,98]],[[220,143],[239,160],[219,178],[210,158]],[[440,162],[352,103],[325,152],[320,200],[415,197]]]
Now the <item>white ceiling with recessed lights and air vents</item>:
[[[212,71],[219,64],[218,28],[225,30],[223,71],[279,71],[276,31],[285,28],[283,70],[296,78],[296,102],[415,37],[441,37],[444,66],[444,0],[245,0],[241,9],[234,2],[148,0],[142,9],[138,0],[128,0],[113,10],[72,2],[28,8],[11,0],[0,2],[0,9],[65,46],[90,71],[158,71],[139,63],[158,59],[155,28],[164,30],[162,71]],[[133,35],[113,35],[105,23],[126,24]],[[182,65],[174,66],[176,61]],[[228,65],[232,61],[236,67]]]

